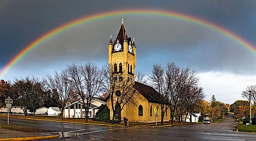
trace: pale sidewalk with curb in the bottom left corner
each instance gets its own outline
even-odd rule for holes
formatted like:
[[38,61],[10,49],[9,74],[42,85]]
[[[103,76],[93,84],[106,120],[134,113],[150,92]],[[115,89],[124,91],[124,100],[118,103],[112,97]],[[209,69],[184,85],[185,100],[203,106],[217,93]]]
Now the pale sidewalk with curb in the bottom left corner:
[[[27,137],[30,137],[30,138],[27,138]],[[55,133],[51,133],[51,132],[28,133],[28,132],[0,129],[0,140],[9,139],[9,138],[16,138],[14,140],[19,140],[18,138],[25,138],[25,140],[26,139],[32,140],[32,139],[42,139],[42,138],[50,138],[50,137],[58,137],[58,136],[56,136]],[[22,139],[22,140],[24,140],[24,139]]]

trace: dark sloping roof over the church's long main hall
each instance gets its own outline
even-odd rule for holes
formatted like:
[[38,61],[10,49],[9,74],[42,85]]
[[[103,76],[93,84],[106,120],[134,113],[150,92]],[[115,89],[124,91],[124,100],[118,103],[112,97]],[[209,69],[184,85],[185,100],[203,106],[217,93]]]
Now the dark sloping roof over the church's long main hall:
[[160,103],[159,93],[153,87],[135,81],[135,88],[149,102]]

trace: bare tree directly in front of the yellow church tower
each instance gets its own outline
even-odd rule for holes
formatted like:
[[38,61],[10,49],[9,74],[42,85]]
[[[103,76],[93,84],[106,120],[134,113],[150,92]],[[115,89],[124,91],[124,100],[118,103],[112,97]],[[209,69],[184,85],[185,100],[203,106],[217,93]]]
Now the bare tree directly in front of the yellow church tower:
[[115,114],[123,110],[126,104],[135,104],[135,87],[133,82],[126,80],[126,74],[114,72],[113,66],[106,65],[103,79],[103,91],[109,94],[112,107],[112,124],[114,124]]

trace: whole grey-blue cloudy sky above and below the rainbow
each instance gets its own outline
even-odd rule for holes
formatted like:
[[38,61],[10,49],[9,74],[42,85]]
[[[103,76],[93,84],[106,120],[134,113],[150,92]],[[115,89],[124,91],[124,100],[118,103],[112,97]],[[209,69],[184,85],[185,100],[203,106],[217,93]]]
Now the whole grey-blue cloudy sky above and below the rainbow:
[[[23,48],[48,31],[78,18],[123,9],[178,12],[230,30],[256,45],[256,1],[0,1],[0,71]],[[256,55],[230,37],[173,17],[126,14],[99,18],[51,37],[28,52],[4,80],[42,78],[66,64],[108,62],[109,36],[118,34],[121,16],[135,37],[137,67],[150,74],[153,63],[195,68],[206,100],[232,104],[256,82]]]

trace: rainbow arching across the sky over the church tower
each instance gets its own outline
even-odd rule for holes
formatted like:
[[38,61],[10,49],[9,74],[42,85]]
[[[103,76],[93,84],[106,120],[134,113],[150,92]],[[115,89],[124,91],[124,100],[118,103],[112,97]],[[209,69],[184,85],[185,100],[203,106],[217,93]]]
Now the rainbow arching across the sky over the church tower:
[[172,17],[179,20],[183,20],[186,22],[202,25],[203,27],[213,29],[214,31],[221,33],[225,36],[230,37],[230,39],[234,40],[237,43],[240,43],[243,47],[251,50],[253,53],[256,53],[256,47],[253,46],[253,44],[249,43],[245,39],[242,39],[242,37],[236,35],[232,31],[228,29],[224,29],[214,23],[210,23],[208,21],[204,21],[202,19],[199,19],[197,17],[189,16],[180,14],[178,12],[171,12],[171,11],[161,11],[161,10],[117,10],[117,11],[109,11],[109,12],[103,12],[100,14],[90,15],[86,17],[79,18],[77,20],[65,23],[51,31],[48,31],[46,34],[42,35],[38,39],[34,40],[32,43],[28,44],[27,47],[23,48],[20,53],[18,53],[13,59],[11,59],[7,65],[4,66],[4,68],[0,72],[0,79],[3,78],[5,73],[8,72],[10,68],[12,68],[23,56],[26,55],[30,50],[33,48],[36,48],[39,46],[39,44],[47,41],[51,37],[58,35],[60,33],[63,33],[66,30],[69,30],[73,27],[76,27],[77,25],[84,24],[90,21],[98,20],[100,18],[104,17],[110,17],[110,16],[117,16],[117,15],[127,15],[127,14],[136,14],[136,15],[156,15],[156,16],[166,16],[166,17]]

